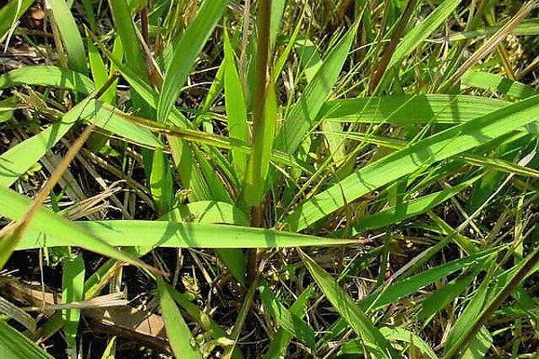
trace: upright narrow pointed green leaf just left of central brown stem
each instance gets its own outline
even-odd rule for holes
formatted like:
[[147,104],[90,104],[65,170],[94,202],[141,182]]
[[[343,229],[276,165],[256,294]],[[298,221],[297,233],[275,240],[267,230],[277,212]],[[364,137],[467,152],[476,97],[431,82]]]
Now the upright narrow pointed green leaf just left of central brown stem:
[[[226,30],[224,31],[223,46],[225,47],[225,106],[228,135],[248,144],[249,127],[247,125],[247,109],[243,95],[243,85],[235,66],[234,48],[232,48]],[[238,152],[236,149],[232,150],[234,170],[240,180],[243,179],[247,159],[248,156],[245,153]]]

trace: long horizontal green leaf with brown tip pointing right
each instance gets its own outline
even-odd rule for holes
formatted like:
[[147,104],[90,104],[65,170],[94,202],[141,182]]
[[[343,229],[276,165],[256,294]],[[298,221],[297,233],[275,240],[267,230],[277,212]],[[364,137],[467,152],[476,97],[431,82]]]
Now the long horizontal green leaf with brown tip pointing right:
[[[4,195],[5,190],[2,190],[1,195]],[[9,197],[4,196],[4,198],[11,200],[13,192],[10,192]],[[13,201],[13,207],[17,210],[14,210],[13,207],[3,208],[0,209],[0,215],[15,218],[16,214],[19,213],[20,205],[21,202]],[[116,247],[279,248],[332,246],[357,242],[356,240],[330,239],[291,232],[207,223],[110,220],[79,221],[73,223],[73,227],[75,227],[76,232],[91,232],[106,243]],[[86,248],[91,245],[89,242],[82,242],[78,239],[71,242],[66,240],[66,232],[57,233],[49,225],[43,228],[34,225],[22,236],[17,250],[58,247],[68,244]]]

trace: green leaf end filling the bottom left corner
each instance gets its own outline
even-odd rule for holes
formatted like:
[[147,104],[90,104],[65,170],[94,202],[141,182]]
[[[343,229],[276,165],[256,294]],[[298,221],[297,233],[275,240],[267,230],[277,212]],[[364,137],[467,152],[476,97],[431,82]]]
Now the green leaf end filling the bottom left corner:
[[13,359],[54,359],[43,349],[0,320],[0,357]]

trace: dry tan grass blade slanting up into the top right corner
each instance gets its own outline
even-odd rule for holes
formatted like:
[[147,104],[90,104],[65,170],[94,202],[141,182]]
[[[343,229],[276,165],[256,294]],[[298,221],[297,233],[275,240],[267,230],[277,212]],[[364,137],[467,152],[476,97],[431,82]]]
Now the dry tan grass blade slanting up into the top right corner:
[[490,52],[496,48],[499,43],[505,39],[520,23],[523,21],[526,16],[539,5],[539,0],[531,0],[526,4],[522,5],[520,10],[509,20],[505,25],[503,25],[499,31],[496,31],[494,35],[487,39],[480,48],[478,48],[471,57],[468,57],[463,65],[461,65],[454,74],[452,74],[447,80],[446,83],[442,86],[445,88],[447,85],[455,85],[460,78],[475,64],[477,64],[483,57],[486,57]]

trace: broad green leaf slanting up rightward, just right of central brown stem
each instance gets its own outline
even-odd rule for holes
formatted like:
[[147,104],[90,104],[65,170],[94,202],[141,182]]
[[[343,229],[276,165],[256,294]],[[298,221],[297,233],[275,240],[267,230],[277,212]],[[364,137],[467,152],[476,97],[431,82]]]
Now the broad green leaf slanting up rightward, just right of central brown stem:
[[301,98],[288,112],[283,127],[275,139],[275,146],[279,150],[294,153],[311,127],[314,126],[318,111],[330,95],[348,57],[352,41],[356,37],[356,31],[358,31],[358,22],[331,49],[323,60],[323,66],[320,66],[313,80],[305,87]]

